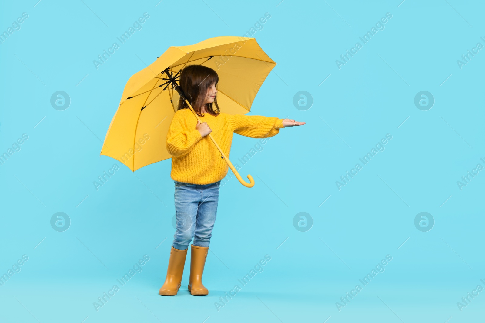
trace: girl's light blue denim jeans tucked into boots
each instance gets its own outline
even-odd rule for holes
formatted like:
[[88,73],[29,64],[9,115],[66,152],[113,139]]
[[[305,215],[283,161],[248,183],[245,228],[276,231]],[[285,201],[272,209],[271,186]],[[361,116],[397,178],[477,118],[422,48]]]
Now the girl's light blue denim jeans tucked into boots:
[[177,231],[172,246],[178,250],[193,245],[209,247],[219,202],[221,181],[211,184],[191,184],[175,181],[175,213]]

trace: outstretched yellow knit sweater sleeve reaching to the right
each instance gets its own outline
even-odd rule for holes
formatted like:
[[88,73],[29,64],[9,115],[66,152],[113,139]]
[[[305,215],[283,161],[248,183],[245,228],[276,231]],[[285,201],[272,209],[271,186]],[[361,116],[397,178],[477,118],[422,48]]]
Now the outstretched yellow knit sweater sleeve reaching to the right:
[[279,133],[279,129],[284,128],[283,119],[276,117],[230,114],[229,120],[233,132],[251,138],[273,137]]

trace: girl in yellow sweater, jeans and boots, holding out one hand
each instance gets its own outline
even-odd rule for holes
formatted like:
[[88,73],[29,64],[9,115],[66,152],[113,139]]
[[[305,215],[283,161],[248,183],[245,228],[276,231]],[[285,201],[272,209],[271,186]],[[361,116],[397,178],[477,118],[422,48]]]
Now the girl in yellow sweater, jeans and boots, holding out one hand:
[[251,138],[268,138],[277,135],[280,128],[305,124],[292,119],[220,112],[216,99],[218,81],[217,73],[202,65],[186,66],[180,74],[180,87],[203,122],[195,118],[185,101],[179,100],[166,141],[167,151],[173,156],[170,177],[175,181],[177,231],[160,295],[177,294],[193,238],[188,289],[192,295],[209,293],[202,284],[202,273],[216,218],[219,186],[228,166],[207,135],[212,133],[229,157],[234,132]]

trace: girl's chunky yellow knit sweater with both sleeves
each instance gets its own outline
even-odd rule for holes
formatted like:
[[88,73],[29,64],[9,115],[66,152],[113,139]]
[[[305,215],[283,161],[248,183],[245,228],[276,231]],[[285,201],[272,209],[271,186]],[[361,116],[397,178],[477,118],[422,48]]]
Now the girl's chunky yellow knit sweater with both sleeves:
[[[237,133],[251,138],[268,138],[284,128],[283,119],[264,116],[247,116],[221,112],[217,116],[204,113],[210,135],[229,158],[232,135]],[[175,112],[167,133],[166,147],[172,157],[170,177],[174,181],[192,184],[210,184],[223,179],[229,167],[221,153],[210,140],[195,129],[197,119],[189,108]]]

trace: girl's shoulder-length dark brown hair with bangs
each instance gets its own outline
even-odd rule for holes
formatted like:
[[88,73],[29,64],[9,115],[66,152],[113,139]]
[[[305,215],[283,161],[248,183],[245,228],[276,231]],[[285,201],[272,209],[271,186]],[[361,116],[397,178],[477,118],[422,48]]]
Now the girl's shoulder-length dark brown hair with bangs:
[[[217,104],[217,94],[214,97],[213,103],[215,104],[215,110],[212,107],[212,103],[206,104],[207,92],[212,83],[215,82],[215,88],[217,89],[217,82],[219,82],[219,76],[217,73],[207,66],[202,65],[188,65],[182,69],[180,73],[180,87],[185,93],[187,101],[191,104],[194,111],[199,116],[201,108],[205,105],[205,110],[211,115],[218,115],[219,105]],[[189,108],[185,101],[178,100],[177,110]]]

